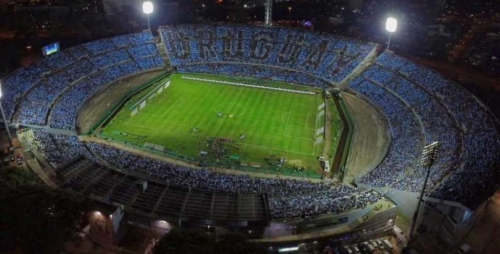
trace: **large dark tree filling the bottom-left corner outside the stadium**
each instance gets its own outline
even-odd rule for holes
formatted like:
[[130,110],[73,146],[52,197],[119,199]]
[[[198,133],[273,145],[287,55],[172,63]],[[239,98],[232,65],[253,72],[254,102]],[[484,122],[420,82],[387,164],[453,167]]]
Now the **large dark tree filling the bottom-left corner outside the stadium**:
[[0,180],[12,183],[0,188],[0,252],[59,253],[82,217],[87,205],[84,197],[24,183],[19,172],[2,173]]

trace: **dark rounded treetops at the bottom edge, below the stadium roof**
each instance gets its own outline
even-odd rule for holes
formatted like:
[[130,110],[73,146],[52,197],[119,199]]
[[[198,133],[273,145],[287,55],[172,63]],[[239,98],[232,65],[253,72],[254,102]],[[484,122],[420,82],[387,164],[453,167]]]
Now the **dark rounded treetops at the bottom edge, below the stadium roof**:
[[154,248],[154,254],[261,254],[265,247],[247,241],[240,234],[225,234],[215,239],[211,234],[193,229],[172,229]]

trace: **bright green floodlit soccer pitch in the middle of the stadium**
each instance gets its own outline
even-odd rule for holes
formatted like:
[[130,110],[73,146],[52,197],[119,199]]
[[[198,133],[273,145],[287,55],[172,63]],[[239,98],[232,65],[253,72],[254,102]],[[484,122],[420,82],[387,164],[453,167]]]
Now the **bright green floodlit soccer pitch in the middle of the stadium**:
[[[314,92],[303,94],[186,79],[245,82]],[[319,156],[333,157],[340,122],[333,102],[322,91],[279,82],[201,74],[172,74],[170,85],[131,115],[131,106],[156,85],[131,97],[100,130],[102,137],[135,145],[155,144],[169,154],[225,164],[283,166],[319,171]],[[329,99],[331,100],[331,99]],[[326,113],[323,114],[320,111]],[[328,115],[328,120],[325,120]],[[321,133],[325,122],[328,134]],[[319,140],[318,140],[319,139]],[[322,141],[321,141],[322,140]],[[325,144],[325,142],[328,142]],[[323,151],[323,149],[328,151]],[[201,155],[200,151],[208,154]]]

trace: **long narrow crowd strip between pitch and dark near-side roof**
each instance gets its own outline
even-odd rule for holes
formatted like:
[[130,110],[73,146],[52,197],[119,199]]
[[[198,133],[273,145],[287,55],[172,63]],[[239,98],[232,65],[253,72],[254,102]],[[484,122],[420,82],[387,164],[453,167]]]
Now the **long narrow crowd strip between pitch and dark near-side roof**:
[[272,195],[292,195],[328,189],[326,184],[309,181],[252,178],[246,174],[223,174],[208,169],[185,167],[96,142],[87,142],[86,146],[92,153],[120,169],[147,174],[173,186],[233,193],[266,192]]

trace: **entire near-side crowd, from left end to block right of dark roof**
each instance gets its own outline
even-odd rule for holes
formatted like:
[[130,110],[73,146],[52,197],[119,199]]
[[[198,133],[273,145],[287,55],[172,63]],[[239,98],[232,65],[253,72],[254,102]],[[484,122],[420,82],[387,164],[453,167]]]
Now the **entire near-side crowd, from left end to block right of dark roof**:
[[76,136],[51,134],[43,128],[32,128],[30,131],[33,144],[54,167],[85,156],[99,164],[147,174],[171,186],[231,193],[266,193],[269,197],[270,214],[274,219],[364,208],[383,197],[380,192],[358,192],[357,189],[340,183],[218,173],[206,168],[160,161],[97,142],[83,144]]

